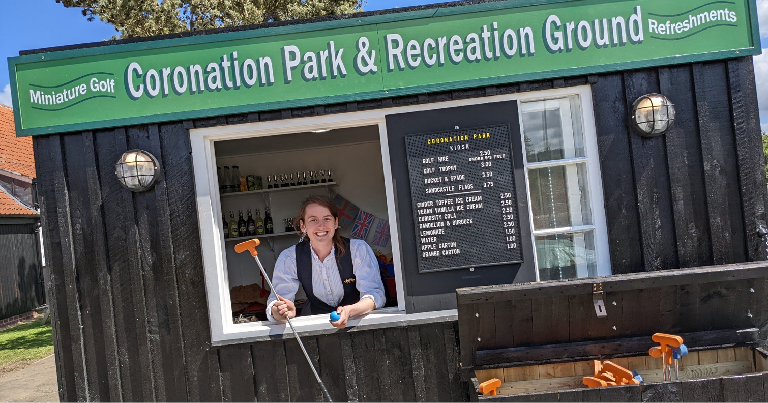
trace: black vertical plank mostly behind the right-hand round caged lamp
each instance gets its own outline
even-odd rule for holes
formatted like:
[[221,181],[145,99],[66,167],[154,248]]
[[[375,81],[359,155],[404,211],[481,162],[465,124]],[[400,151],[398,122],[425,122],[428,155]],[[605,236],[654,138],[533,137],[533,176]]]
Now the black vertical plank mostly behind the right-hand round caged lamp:
[[[658,93],[657,72],[648,69],[624,73],[624,91],[626,105],[644,94]],[[650,272],[677,268],[679,261],[665,139],[630,134],[629,143],[640,218],[643,269]]]

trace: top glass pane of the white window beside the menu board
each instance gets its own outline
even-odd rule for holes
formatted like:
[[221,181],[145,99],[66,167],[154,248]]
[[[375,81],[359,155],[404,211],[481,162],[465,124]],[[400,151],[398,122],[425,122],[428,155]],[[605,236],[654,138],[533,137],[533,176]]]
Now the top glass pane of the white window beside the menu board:
[[584,157],[578,97],[522,104],[525,155],[528,162]]

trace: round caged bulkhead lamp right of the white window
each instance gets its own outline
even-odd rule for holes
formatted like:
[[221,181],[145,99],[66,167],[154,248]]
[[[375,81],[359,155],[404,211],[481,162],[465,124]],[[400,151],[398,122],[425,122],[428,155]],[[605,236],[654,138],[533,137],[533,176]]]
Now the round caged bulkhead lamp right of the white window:
[[647,94],[632,104],[630,124],[643,137],[658,137],[674,123],[674,104],[662,94]]

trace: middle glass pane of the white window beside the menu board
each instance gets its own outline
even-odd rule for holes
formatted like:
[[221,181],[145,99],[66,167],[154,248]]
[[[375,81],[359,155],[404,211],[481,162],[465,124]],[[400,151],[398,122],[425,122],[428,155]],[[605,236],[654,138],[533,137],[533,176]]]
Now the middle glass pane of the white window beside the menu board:
[[592,224],[587,164],[528,171],[534,230]]

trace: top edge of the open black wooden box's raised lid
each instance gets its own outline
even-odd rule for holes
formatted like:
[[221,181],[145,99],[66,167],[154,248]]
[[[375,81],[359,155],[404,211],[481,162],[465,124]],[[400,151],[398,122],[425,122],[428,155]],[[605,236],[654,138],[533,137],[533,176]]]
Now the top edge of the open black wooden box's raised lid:
[[631,273],[590,279],[525,282],[501,286],[456,289],[458,306],[478,302],[530,299],[531,296],[572,296],[591,294],[594,283],[602,283],[605,292],[649,289],[707,282],[735,281],[768,277],[768,263],[737,263],[720,266],[671,269],[650,273]]

